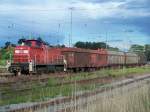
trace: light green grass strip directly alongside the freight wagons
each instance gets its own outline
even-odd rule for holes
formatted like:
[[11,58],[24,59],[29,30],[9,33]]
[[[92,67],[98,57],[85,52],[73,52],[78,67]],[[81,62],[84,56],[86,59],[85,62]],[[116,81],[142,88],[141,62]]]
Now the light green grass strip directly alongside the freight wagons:
[[101,69],[94,72],[81,72],[70,77],[65,77],[63,81],[78,81],[99,77],[121,77],[127,75],[137,75],[150,73],[150,67],[135,67],[135,68],[121,68],[121,69]]

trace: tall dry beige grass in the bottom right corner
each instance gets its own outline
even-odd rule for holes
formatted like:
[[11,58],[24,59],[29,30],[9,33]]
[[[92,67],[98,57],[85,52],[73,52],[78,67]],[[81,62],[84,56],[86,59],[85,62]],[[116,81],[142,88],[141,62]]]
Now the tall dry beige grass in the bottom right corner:
[[76,112],[150,112],[149,85],[130,91],[126,88],[117,89],[95,96],[94,99],[96,100],[88,102],[86,106],[80,106]]

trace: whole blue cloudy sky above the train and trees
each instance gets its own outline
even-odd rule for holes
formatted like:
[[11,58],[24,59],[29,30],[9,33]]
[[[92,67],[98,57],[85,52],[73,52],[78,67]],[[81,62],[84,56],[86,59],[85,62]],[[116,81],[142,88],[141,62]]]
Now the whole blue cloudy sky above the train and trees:
[[[0,0],[0,44],[24,36],[51,44],[150,43],[150,0]],[[72,10],[71,10],[72,9]]]

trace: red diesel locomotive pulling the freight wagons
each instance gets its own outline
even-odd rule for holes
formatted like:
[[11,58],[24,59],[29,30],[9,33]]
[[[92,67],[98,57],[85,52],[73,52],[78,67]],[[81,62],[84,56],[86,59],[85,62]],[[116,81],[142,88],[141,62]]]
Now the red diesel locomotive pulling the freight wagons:
[[42,72],[51,68],[63,68],[63,55],[60,49],[51,50],[44,43],[37,40],[26,40],[14,50],[13,63],[9,71],[18,73]]

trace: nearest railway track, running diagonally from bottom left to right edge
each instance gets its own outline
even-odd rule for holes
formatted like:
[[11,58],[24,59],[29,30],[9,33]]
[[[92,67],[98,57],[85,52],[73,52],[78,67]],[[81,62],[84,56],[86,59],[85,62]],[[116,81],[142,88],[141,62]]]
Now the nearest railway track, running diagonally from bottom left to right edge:
[[[49,101],[44,101],[44,102],[40,102],[40,103],[33,103],[30,105],[18,105],[17,108],[9,107],[6,110],[6,112],[40,112],[42,109],[45,110],[46,108],[52,108],[54,106],[60,107],[60,105],[66,104],[69,105],[71,101],[77,101],[80,99],[84,99],[87,97],[92,97],[95,96],[97,94],[103,93],[103,92],[107,92],[116,88],[120,88],[123,86],[127,86],[130,84],[133,84],[135,82],[140,82],[140,81],[146,81],[146,83],[150,83],[150,74],[148,75],[143,75],[143,76],[138,76],[138,77],[132,77],[132,78],[128,78],[126,80],[122,80],[122,81],[117,81],[114,82],[112,84],[110,84],[109,86],[103,86],[99,89],[96,89],[95,91],[86,91],[83,93],[77,93],[73,96],[68,96],[68,97],[61,97],[58,99],[52,99]],[[86,104],[82,103],[82,105]],[[69,110],[71,108],[77,108],[78,105],[74,105],[74,106],[68,106],[66,108],[59,108],[58,110],[56,109],[55,112],[69,112]],[[16,106],[15,106],[16,107]],[[67,111],[66,111],[67,110]],[[48,111],[48,110],[47,110]],[[46,112],[46,111],[45,111]]]

